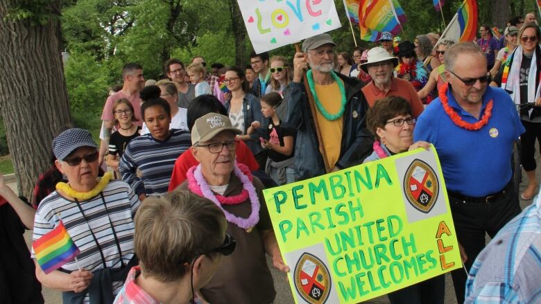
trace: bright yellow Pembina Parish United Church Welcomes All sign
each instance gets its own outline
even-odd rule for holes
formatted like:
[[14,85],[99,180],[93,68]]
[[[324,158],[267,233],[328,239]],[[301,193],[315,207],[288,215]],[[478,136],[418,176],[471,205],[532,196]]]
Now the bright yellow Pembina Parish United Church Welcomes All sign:
[[359,303],[462,267],[433,147],[264,195],[295,303]]

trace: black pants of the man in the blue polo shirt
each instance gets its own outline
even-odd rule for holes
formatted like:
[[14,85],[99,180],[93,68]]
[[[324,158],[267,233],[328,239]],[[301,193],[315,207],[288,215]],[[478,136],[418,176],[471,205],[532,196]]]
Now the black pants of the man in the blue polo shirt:
[[[465,267],[468,271],[485,247],[485,233],[494,238],[499,229],[520,213],[518,196],[512,182],[507,184],[501,197],[489,204],[463,202],[463,199],[453,197],[450,193],[449,204],[458,242],[462,244],[467,255]],[[467,276],[464,269],[452,271],[452,276],[456,301],[462,304]]]

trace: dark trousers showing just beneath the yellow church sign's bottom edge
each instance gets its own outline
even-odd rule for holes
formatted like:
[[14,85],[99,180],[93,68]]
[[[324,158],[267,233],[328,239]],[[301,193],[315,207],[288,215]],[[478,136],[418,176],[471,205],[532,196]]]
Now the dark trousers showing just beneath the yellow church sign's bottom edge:
[[391,304],[443,304],[445,274],[387,294]]

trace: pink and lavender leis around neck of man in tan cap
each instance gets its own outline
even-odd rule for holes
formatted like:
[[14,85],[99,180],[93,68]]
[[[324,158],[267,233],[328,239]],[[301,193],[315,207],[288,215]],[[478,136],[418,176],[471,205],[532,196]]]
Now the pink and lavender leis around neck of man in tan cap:
[[[257,224],[257,222],[259,222],[259,208],[261,208],[261,205],[259,204],[259,198],[257,197],[255,187],[252,184],[253,177],[248,167],[246,165],[243,165],[242,163],[235,163],[233,172],[234,175],[237,176],[243,184],[243,190],[239,195],[234,195],[232,197],[215,195],[212,190],[210,190],[207,181],[203,177],[200,164],[198,166],[189,168],[186,174],[188,179],[188,188],[196,195],[210,199],[212,202],[214,202],[214,204],[216,204],[216,206],[221,208],[221,210],[225,214],[225,219],[227,220],[227,222],[236,224],[240,228],[247,229],[248,232],[250,232],[251,229]],[[247,219],[232,215],[231,213],[225,211],[225,209],[222,207],[222,204],[240,204],[241,202],[246,201],[248,197],[250,198],[250,202],[252,204],[252,213],[250,213],[250,216]]]

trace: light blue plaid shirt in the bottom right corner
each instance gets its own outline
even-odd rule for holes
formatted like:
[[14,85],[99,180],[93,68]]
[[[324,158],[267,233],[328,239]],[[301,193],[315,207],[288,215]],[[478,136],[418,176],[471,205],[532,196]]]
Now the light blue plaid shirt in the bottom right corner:
[[465,303],[541,303],[541,195],[477,256]]

